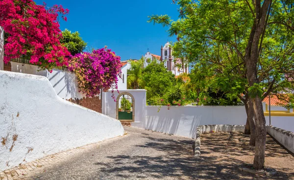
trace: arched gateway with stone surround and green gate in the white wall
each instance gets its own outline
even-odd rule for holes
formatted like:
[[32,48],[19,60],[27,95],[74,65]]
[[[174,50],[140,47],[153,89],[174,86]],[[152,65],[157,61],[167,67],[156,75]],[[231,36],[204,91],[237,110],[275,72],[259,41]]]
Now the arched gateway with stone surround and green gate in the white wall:
[[116,118],[122,121],[134,122],[135,120],[135,99],[128,92],[122,92],[116,99]]

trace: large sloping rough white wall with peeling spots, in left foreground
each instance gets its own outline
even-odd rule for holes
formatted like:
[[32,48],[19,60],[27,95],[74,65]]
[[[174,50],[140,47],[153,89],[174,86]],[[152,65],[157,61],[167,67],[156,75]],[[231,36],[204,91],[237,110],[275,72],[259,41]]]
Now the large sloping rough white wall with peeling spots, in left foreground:
[[61,99],[46,77],[0,71],[0,85],[0,171],[124,133],[118,120]]

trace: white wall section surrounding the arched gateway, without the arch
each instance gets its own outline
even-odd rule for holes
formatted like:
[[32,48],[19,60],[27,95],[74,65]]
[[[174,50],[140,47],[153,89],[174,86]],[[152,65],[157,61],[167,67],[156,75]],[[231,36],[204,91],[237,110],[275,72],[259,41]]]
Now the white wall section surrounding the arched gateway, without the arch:
[[[135,118],[131,123],[132,127],[145,128],[146,121],[146,90],[119,90],[120,93],[128,92],[134,96],[135,103]],[[111,97],[111,90],[102,94],[102,113],[110,117],[116,118],[116,103]],[[114,90],[114,95],[117,98],[119,93]]]

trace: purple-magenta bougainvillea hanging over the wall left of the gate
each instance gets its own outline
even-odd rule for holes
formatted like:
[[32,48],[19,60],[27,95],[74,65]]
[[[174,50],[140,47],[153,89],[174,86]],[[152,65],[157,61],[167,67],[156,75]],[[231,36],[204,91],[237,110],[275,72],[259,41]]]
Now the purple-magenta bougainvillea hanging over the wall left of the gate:
[[118,89],[118,76],[121,77],[121,57],[111,49],[94,50],[92,53],[84,52],[73,56],[69,70],[76,74],[79,91],[87,97],[94,97],[101,90]]

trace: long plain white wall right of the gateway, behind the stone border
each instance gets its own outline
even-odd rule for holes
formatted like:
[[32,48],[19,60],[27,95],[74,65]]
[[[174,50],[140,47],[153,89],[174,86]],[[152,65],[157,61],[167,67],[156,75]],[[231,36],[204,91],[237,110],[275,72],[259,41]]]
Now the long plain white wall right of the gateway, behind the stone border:
[[246,112],[244,106],[147,106],[146,129],[196,137],[199,125],[245,125]]

